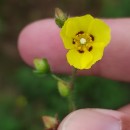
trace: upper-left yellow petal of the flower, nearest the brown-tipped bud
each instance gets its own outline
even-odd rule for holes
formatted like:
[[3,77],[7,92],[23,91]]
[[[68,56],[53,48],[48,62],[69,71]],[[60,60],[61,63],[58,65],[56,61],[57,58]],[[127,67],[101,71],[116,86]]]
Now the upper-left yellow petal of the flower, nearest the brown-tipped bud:
[[73,38],[80,32],[87,32],[94,18],[91,15],[68,18],[61,29],[60,36],[66,49],[74,48]]

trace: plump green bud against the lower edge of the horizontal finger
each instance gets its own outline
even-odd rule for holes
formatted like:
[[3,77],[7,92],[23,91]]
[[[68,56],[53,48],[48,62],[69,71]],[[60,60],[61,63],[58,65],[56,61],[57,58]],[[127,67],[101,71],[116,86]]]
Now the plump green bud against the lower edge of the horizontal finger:
[[35,58],[33,60],[35,71],[38,74],[48,74],[50,73],[50,66],[48,64],[47,59],[40,59],[40,58]]

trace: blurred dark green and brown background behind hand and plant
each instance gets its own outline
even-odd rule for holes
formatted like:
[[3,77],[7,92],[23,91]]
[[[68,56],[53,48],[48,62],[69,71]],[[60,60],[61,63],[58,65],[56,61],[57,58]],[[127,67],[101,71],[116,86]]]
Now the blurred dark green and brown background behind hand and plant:
[[[42,130],[41,116],[68,113],[56,81],[38,77],[17,50],[20,30],[35,20],[54,16],[60,7],[72,15],[129,17],[129,0],[0,0],[0,130]],[[97,77],[76,80],[78,108],[117,109],[130,102],[130,84]]]

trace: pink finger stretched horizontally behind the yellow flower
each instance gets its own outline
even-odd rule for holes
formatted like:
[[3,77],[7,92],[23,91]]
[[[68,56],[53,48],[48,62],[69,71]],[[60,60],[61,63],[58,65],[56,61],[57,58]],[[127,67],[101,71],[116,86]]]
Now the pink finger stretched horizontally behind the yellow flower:
[[[105,22],[111,27],[111,43],[106,47],[102,60],[80,74],[130,81],[130,19],[108,19]],[[32,65],[36,57],[47,58],[53,72],[70,73],[67,50],[63,47],[59,32],[54,19],[37,21],[25,27],[18,40],[24,61]]]

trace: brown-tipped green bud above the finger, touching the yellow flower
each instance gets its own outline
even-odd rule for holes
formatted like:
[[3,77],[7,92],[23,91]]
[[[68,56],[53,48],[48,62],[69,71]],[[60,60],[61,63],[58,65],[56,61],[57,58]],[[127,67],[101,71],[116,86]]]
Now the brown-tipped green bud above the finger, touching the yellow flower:
[[55,22],[60,28],[62,28],[67,18],[68,18],[67,14],[65,14],[61,9],[59,8],[55,9]]

